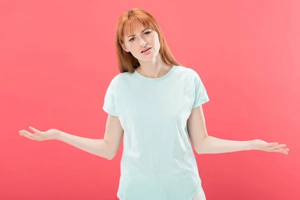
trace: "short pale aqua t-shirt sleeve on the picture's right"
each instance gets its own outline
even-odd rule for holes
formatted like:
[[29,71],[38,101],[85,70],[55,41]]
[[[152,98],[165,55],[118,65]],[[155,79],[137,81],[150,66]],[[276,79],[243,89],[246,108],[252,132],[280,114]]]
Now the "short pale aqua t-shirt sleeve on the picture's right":
[[206,89],[198,73],[196,73],[194,77],[194,92],[195,92],[195,98],[191,109],[198,107],[199,105],[209,101],[208,95],[206,93]]

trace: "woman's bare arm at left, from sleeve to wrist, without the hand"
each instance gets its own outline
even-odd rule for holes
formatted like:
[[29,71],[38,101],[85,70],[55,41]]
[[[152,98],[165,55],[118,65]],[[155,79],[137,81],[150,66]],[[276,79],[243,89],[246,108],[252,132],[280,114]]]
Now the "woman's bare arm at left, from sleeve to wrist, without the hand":
[[86,152],[112,159],[121,142],[123,128],[118,117],[108,114],[103,139],[91,139],[61,131],[57,139]]

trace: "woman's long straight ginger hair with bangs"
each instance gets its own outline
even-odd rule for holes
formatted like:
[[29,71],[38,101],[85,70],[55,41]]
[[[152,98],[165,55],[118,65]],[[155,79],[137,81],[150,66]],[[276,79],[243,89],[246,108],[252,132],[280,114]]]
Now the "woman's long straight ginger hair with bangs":
[[121,44],[124,43],[123,35],[135,32],[138,28],[138,24],[142,24],[144,27],[151,28],[157,32],[160,43],[159,53],[165,64],[180,65],[172,55],[155,18],[141,8],[131,8],[120,15],[115,29],[116,57],[118,68],[121,73],[126,71],[133,73],[134,68],[139,66],[138,60],[131,52],[126,52],[121,46]]

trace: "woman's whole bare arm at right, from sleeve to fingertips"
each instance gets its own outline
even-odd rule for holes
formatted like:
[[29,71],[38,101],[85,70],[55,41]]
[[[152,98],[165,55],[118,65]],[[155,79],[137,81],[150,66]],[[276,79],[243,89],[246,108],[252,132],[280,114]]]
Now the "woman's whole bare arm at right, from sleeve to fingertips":
[[268,143],[261,139],[235,141],[209,136],[206,131],[201,105],[191,110],[187,119],[187,130],[193,148],[198,154],[225,153],[241,150],[275,151],[287,154],[286,151],[289,151],[288,148],[284,148],[285,144],[278,144],[277,142]]

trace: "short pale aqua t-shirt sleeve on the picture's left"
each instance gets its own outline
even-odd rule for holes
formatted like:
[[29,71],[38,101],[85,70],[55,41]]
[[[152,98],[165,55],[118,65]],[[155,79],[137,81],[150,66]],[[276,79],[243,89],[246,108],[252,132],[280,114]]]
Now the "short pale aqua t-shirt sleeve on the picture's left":
[[106,89],[106,93],[104,96],[104,103],[102,109],[112,115],[117,116],[115,109],[115,95],[114,95],[114,79],[112,79]]

